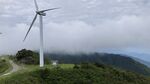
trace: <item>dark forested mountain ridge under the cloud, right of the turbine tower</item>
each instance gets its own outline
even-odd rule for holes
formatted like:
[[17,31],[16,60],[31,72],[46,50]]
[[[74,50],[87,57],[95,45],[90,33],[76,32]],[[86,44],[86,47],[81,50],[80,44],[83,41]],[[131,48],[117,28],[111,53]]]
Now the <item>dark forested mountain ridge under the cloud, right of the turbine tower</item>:
[[105,65],[114,66],[116,68],[140,73],[143,75],[150,75],[150,69],[134,60],[131,57],[120,54],[108,53],[91,53],[91,54],[46,54],[52,60],[58,60],[59,63],[79,64],[83,62],[101,63]]

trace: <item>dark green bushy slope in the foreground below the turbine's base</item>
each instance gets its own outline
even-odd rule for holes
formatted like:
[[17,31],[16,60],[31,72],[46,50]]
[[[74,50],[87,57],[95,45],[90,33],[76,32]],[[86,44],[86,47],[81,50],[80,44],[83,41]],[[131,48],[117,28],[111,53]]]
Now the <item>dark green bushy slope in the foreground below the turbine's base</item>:
[[104,65],[82,64],[74,69],[36,69],[0,79],[0,84],[148,84],[144,76]]

